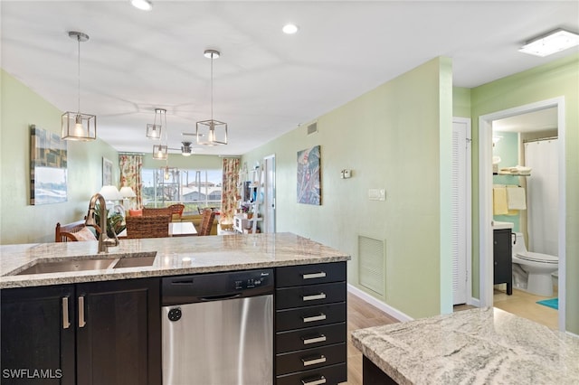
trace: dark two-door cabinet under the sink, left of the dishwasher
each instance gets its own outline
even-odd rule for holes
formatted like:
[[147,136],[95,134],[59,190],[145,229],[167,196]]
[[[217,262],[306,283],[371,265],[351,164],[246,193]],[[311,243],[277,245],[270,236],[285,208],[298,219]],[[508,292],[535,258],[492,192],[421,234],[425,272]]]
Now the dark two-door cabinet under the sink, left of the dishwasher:
[[159,384],[159,309],[157,278],[4,289],[2,383]]

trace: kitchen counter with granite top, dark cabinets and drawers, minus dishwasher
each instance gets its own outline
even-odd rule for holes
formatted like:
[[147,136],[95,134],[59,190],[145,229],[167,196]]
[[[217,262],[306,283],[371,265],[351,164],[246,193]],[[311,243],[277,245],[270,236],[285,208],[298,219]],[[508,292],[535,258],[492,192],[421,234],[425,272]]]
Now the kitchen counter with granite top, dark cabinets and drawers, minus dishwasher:
[[270,317],[271,382],[346,380],[350,257],[337,249],[289,233],[123,239],[109,254],[97,248],[96,241],[0,247],[3,375],[158,385],[163,277],[272,268],[279,301]]

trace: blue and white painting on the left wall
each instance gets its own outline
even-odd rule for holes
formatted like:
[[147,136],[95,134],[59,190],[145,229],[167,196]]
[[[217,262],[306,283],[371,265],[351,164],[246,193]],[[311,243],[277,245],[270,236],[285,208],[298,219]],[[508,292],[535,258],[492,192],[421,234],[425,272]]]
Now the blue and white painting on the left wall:
[[30,127],[30,204],[67,200],[66,142],[58,134]]

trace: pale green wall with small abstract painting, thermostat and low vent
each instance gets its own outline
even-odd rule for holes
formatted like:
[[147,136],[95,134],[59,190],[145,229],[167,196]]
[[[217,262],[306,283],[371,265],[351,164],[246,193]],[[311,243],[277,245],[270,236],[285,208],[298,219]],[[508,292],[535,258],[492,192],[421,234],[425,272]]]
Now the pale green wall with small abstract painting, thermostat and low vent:
[[[304,125],[242,159],[276,156],[277,231],[350,254],[350,284],[415,318],[451,312],[451,298],[441,299],[451,291],[450,201],[441,195],[450,185],[451,94],[451,61],[438,58],[318,117],[317,134]],[[317,145],[322,204],[300,204],[297,152]],[[345,168],[350,179],[340,179]],[[368,189],[384,189],[386,200],[368,200]],[[358,284],[358,235],[385,241],[384,296]]]

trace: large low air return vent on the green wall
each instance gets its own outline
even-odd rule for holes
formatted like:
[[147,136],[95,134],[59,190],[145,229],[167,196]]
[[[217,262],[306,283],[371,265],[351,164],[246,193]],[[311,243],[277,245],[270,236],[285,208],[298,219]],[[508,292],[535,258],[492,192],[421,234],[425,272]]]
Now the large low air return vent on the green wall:
[[384,240],[358,236],[358,283],[384,296]]

